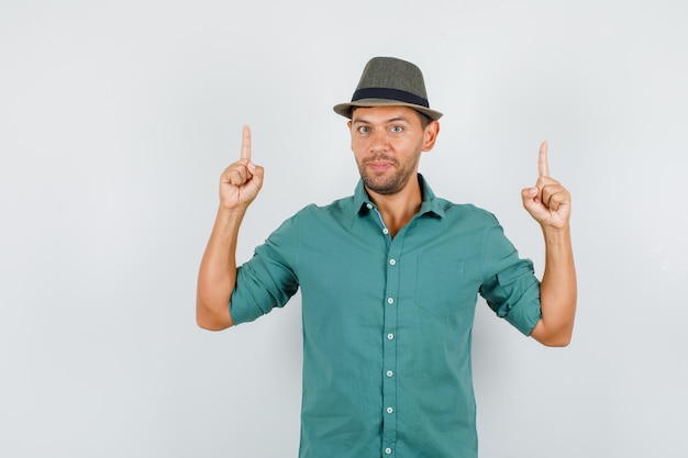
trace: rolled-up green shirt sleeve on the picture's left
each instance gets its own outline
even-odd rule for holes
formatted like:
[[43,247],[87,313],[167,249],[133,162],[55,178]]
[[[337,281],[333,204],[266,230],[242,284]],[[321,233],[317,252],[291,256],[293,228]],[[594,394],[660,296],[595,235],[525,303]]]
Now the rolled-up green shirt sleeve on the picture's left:
[[298,216],[285,221],[255,249],[253,258],[237,268],[230,300],[234,324],[254,321],[276,306],[284,306],[297,292]]

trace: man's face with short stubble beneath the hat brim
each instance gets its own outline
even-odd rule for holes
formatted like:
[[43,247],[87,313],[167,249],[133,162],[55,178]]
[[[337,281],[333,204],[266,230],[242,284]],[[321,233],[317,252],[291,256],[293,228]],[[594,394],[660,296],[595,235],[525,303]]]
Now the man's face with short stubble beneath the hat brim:
[[360,178],[378,194],[395,194],[415,177],[421,152],[432,148],[439,132],[436,121],[423,129],[408,107],[357,108],[348,127]]

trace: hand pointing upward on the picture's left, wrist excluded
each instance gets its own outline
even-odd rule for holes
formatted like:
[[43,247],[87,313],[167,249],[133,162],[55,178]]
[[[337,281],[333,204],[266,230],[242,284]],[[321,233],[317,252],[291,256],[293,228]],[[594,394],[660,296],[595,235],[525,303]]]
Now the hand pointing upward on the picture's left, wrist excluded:
[[244,125],[241,159],[224,169],[220,179],[220,208],[246,210],[263,187],[264,171],[251,161],[251,129]]

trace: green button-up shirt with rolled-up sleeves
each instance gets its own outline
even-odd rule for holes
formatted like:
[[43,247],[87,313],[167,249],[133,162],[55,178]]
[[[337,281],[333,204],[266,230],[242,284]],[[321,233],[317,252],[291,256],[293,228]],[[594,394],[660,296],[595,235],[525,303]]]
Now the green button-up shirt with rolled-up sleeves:
[[301,288],[301,458],[476,458],[477,294],[528,335],[540,282],[495,216],[436,198],[389,236],[362,182],[287,220],[237,271],[235,323]]

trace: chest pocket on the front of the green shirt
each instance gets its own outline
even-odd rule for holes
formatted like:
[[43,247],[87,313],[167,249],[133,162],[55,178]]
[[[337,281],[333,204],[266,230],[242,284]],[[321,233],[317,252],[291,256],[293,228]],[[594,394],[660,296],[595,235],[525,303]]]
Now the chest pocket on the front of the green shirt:
[[464,273],[464,262],[420,255],[415,273],[415,304],[435,316],[447,316],[462,308],[473,308],[477,292]]

